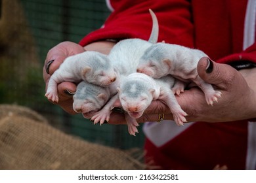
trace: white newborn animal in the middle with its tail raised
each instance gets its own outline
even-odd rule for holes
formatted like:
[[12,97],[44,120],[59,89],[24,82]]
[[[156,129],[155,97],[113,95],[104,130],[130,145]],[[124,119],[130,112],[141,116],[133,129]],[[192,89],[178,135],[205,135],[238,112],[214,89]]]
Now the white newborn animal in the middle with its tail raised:
[[[144,51],[150,47],[153,43],[158,41],[158,19],[152,10],[150,10],[150,15],[152,16],[152,31],[148,41],[142,39],[125,39],[117,42],[117,44],[112,48],[108,58],[112,61],[112,65],[117,72],[116,81],[110,84],[111,93],[116,93],[110,101],[91,118],[97,124],[104,123],[110,118],[112,113],[112,108],[115,101],[119,98],[117,93],[117,88],[121,84],[123,78],[131,73],[135,73],[139,59],[144,54]],[[129,117],[128,117],[129,118]],[[127,120],[129,120],[127,118]]]

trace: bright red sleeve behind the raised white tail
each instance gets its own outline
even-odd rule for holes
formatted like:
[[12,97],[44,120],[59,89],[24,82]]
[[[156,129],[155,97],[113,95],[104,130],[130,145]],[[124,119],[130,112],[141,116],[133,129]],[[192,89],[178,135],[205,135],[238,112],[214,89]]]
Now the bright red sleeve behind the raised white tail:
[[158,17],[158,41],[193,47],[193,27],[190,3],[186,0],[122,0],[110,1],[114,12],[104,26],[86,35],[80,42],[85,46],[106,39],[140,38],[148,40],[152,29],[151,8]]

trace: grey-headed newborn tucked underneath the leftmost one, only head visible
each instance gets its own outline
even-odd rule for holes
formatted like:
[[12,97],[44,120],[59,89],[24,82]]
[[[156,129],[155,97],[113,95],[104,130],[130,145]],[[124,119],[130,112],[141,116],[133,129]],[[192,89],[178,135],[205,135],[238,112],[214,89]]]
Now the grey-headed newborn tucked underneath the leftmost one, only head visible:
[[110,99],[110,89],[89,82],[81,81],[73,95],[73,109],[83,113],[85,118],[91,118]]

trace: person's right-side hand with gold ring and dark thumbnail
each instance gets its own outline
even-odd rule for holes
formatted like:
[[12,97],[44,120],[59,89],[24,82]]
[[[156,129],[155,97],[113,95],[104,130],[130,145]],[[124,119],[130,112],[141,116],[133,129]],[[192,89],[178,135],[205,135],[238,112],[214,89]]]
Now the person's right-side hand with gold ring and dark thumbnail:
[[[229,122],[255,118],[256,114],[256,69],[236,71],[230,65],[215,63],[202,58],[198,63],[198,75],[222,93],[218,103],[207,105],[202,90],[198,87],[185,90],[177,101],[188,114],[188,122]],[[118,106],[119,103],[116,103]],[[164,113],[165,120],[173,120],[169,108],[161,101],[153,101],[138,122],[157,121],[158,114]],[[123,115],[112,113],[110,124],[125,124]]]

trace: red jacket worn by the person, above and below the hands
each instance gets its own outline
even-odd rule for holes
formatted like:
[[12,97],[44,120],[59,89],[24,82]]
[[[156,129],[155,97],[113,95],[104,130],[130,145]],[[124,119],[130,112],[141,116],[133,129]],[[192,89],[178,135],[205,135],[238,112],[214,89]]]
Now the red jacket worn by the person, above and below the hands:
[[[106,39],[148,40],[151,8],[160,24],[158,41],[198,48],[219,63],[256,63],[256,44],[243,50],[246,0],[113,0],[110,6],[114,12],[104,27],[86,35],[81,45]],[[146,139],[146,161],[161,169],[213,169],[218,164],[245,169],[247,127],[247,121],[196,122],[161,146]]]

